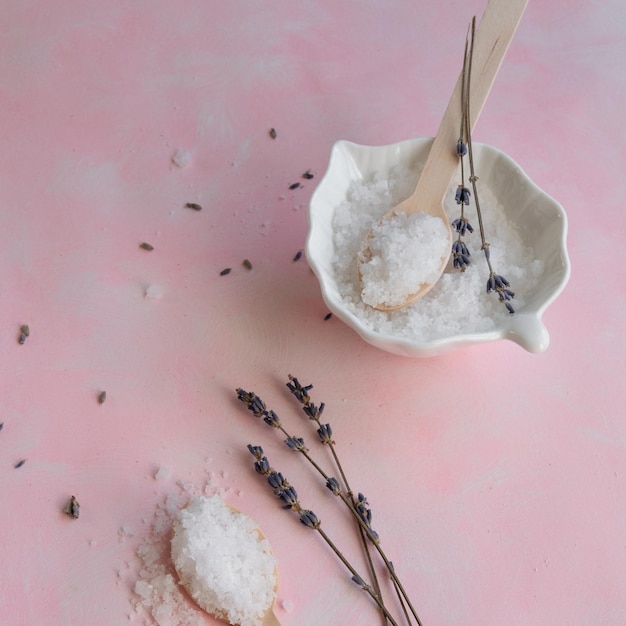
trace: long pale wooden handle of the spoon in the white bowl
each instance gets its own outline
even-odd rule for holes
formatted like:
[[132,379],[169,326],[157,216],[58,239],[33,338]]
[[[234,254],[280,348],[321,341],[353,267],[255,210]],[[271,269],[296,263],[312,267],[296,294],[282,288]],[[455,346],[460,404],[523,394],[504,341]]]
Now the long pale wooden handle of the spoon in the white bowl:
[[[487,4],[474,39],[469,103],[470,130],[474,128],[489,96],[527,3],[528,0],[489,0]],[[463,72],[456,83],[413,194],[419,196],[422,206],[428,206],[429,200],[435,206],[441,204],[459,165],[455,148],[461,129],[462,81]]]

